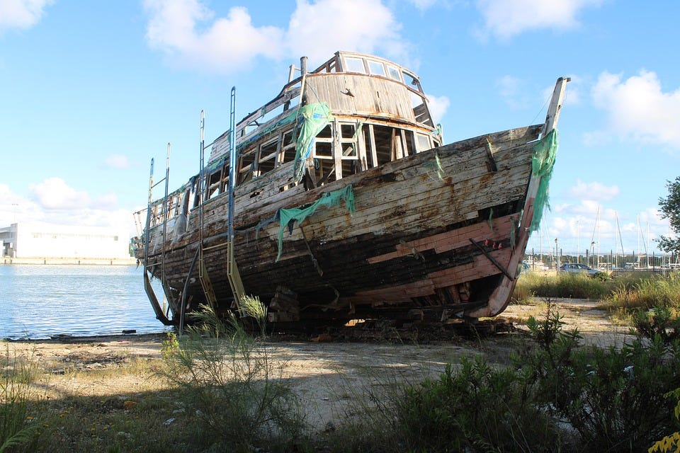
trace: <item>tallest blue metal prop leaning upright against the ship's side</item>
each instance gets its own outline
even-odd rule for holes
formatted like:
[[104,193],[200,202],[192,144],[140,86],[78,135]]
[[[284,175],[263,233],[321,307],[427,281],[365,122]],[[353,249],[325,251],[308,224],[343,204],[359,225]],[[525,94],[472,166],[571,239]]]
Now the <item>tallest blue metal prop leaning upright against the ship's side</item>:
[[234,304],[239,309],[244,296],[243,282],[234,258],[234,191],[236,190],[236,167],[238,153],[236,150],[236,87],[232,86],[229,108],[229,193],[227,194],[227,278],[234,294]]

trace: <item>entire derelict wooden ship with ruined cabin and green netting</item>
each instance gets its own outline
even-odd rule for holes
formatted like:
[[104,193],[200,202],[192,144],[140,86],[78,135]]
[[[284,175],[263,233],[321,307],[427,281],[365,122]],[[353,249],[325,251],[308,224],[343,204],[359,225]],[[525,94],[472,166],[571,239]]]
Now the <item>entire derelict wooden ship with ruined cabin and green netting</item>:
[[166,171],[158,200],[152,162],[135,253],[157,318],[235,309],[242,294],[271,322],[310,326],[501,313],[540,220],[568,79],[543,125],[443,144],[412,71],[353,52],[295,70],[210,145],[202,115],[200,173],[168,193]]

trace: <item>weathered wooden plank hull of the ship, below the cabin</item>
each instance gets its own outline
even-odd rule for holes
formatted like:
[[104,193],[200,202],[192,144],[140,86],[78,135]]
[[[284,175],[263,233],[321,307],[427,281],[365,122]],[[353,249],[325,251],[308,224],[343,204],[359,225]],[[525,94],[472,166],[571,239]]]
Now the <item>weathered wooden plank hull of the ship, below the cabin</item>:
[[[246,293],[263,302],[277,291],[288,299],[294,294],[298,306],[272,307],[276,321],[497,314],[508,301],[492,300],[494,290],[502,280],[514,280],[523,255],[516,238],[541,127],[438,147],[314,190],[299,185],[278,193],[290,175],[285,166],[246,183],[236,192],[234,242]],[[344,203],[319,208],[292,234],[286,229],[277,260],[280,222],[257,225],[280,208],[310,204],[348,185],[356,211]],[[204,207],[204,261],[217,300],[227,302],[232,290],[222,198]],[[169,286],[183,288],[189,277],[194,301],[204,299],[198,278],[188,275],[198,221],[189,219],[187,233],[171,231],[164,251],[160,228],[152,230],[148,258],[160,268],[163,251]]]

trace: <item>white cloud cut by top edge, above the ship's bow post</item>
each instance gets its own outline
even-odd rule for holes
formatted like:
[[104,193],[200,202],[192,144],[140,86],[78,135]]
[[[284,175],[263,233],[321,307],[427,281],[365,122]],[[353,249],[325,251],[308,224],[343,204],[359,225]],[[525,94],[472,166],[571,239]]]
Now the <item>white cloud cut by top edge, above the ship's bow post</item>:
[[507,39],[526,30],[574,28],[577,14],[602,0],[477,0],[484,16],[481,35]]

